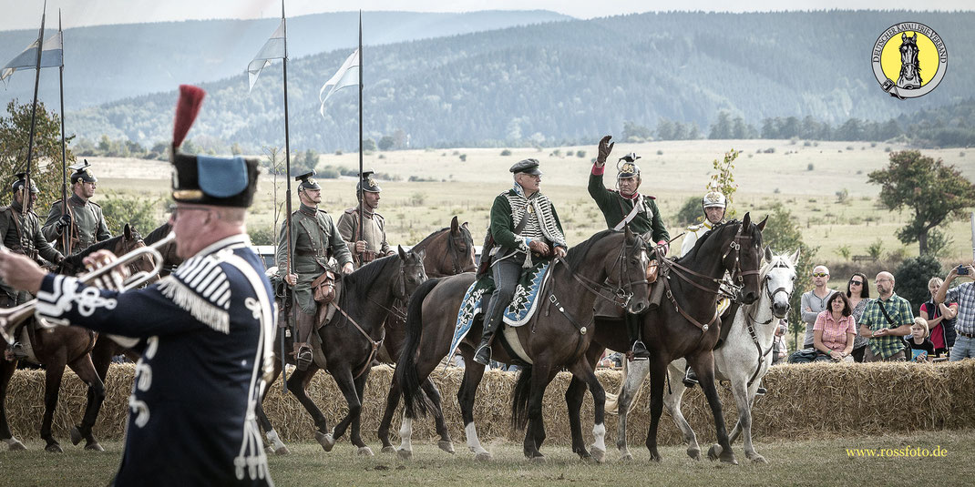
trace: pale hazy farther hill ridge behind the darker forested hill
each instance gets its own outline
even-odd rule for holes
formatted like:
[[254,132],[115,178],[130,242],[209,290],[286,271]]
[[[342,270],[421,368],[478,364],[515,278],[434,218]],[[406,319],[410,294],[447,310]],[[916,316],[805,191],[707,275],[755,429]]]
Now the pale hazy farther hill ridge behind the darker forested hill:
[[[54,20],[52,20],[54,19]],[[367,12],[363,42],[390,44],[491,30],[513,25],[571,19],[547,11],[485,11],[463,14]],[[65,19],[66,21],[67,19]],[[173,90],[180,83],[216,81],[245,72],[248,62],[280,19],[187,20],[94,27],[64,31],[64,92],[68,110],[130,96]],[[48,16],[45,37],[57,29]],[[359,13],[315,14],[288,19],[292,59],[354,46]],[[0,31],[0,66],[20,54],[37,29]],[[57,70],[41,76],[41,97],[58,104]],[[2,98],[27,99],[34,77],[16,74]]]

